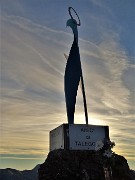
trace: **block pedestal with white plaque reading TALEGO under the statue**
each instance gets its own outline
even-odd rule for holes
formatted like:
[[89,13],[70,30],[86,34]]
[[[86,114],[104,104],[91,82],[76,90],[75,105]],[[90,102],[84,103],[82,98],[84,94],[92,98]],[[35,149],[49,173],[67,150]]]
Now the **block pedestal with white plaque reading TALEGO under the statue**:
[[109,127],[86,124],[62,124],[50,131],[50,151],[95,150],[97,141],[109,139]]

